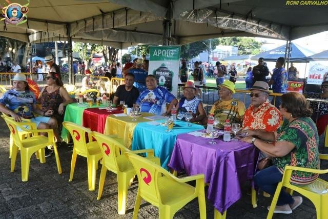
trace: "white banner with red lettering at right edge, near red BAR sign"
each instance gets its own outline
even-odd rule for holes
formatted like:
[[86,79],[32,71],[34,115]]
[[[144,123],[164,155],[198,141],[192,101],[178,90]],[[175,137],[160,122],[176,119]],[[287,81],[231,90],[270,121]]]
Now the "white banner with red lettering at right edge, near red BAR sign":
[[307,84],[321,85],[323,75],[328,72],[328,61],[310,62]]

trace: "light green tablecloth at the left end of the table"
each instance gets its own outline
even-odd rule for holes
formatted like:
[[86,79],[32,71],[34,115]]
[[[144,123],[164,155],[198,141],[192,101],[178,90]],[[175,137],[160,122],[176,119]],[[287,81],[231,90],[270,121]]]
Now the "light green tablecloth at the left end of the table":
[[[84,104],[84,105],[78,105],[77,103],[72,103],[66,106],[66,110],[65,110],[65,115],[64,115],[64,122],[72,122],[75,123],[77,125],[82,125],[82,121],[83,121],[83,111],[87,108],[94,108],[94,107],[98,107],[96,104],[92,105],[92,107],[90,107],[88,104]],[[100,104],[99,107],[103,107],[103,105]],[[61,129],[61,138],[63,138],[63,140],[65,142],[68,142],[69,138],[68,138],[68,130],[66,128]]]

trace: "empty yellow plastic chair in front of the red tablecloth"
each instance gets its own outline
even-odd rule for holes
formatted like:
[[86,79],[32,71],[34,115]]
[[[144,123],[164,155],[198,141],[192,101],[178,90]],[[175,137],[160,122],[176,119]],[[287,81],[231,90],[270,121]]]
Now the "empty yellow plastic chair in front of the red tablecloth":
[[[96,185],[98,161],[101,159],[98,144],[97,142],[92,142],[90,129],[71,122],[63,122],[63,126],[70,132],[74,143],[69,182],[73,180],[77,155],[84,156],[87,158],[88,163],[89,190],[93,191]],[[87,143],[86,135],[88,136],[89,143]]]

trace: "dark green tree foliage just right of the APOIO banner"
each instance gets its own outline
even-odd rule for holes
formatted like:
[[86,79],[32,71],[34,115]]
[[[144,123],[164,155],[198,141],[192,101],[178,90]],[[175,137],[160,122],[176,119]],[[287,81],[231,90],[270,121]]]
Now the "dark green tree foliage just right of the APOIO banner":
[[217,38],[212,39],[210,43],[210,39],[206,39],[204,41],[193,42],[190,44],[182,45],[181,46],[181,53],[180,57],[185,59],[191,59],[196,57],[199,53],[203,51],[211,51],[215,49],[215,47],[219,44],[219,40]]

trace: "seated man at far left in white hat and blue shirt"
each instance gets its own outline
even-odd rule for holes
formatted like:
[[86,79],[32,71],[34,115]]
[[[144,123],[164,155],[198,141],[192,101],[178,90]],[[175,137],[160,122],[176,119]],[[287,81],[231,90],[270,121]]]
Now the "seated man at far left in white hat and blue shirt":
[[[11,115],[16,122],[22,122],[22,118],[28,118],[36,124],[37,129],[53,129],[57,126],[54,118],[46,116],[34,117],[33,112],[44,115],[44,112],[36,108],[36,98],[29,90],[24,74],[17,73],[13,78],[13,89],[4,93],[0,98],[0,112]],[[46,156],[52,151],[46,148]]]

